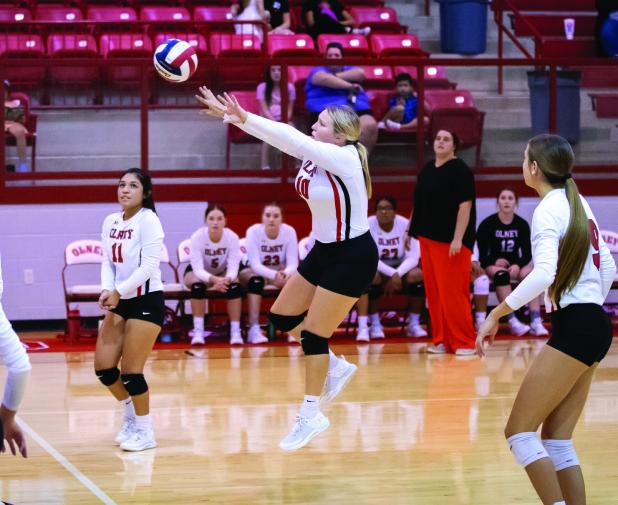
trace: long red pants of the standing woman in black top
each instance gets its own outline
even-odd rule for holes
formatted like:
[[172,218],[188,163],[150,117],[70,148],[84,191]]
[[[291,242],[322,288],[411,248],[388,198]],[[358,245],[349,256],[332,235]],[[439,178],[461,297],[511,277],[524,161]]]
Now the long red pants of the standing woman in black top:
[[462,247],[449,258],[450,244],[419,237],[423,280],[427,294],[431,339],[448,352],[474,348],[476,335],[470,305],[472,252]]

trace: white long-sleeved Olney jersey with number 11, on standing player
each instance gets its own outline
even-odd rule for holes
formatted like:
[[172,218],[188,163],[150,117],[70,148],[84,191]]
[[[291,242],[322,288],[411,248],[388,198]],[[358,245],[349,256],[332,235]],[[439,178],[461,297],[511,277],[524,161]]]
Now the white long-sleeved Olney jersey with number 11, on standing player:
[[101,232],[102,288],[115,289],[123,299],[163,291],[159,261],[164,236],[161,221],[150,209],[142,208],[126,221],[122,212],[107,216]]

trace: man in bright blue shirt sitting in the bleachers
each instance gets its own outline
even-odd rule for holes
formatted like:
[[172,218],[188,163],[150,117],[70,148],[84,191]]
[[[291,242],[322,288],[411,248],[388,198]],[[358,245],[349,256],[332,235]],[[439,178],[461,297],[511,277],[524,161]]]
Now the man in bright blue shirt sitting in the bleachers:
[[[326,46],[326,58],[343,58],[343,46],[331,42]],[[365,80],[365,71],[360,67],[329,65],[311,70],[305,84],[306,107],[312,114],[311,124],[327,105],[350,105],[360,118],[360,142],[371,152],[378,138],[378,127],[369,105],[369,97],[360,85]]]

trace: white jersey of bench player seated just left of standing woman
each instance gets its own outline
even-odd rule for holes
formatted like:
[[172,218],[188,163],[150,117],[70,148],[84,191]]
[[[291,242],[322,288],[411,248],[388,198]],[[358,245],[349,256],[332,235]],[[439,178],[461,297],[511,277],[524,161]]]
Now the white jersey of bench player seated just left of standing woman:
[[410,250],[405,249],[405,240],[408,236],[408,220],[403,216],[395,216],[393,229],[385,231],[380,227],[376,216],[369,217],[369,231],[378,246],[380,261],[378,272],[388,277],[399,274],[403,277],[415,266],[421,256],[418,240],[410,237]]

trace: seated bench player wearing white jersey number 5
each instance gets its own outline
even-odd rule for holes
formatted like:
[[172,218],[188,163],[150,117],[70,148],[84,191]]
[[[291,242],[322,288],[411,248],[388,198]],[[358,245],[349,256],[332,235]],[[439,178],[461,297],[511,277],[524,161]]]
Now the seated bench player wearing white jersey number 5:
[[191,345],[204,343],[204,314],[207,290],[227,294],[230,318],[230,343],[242,344],[240,312],[242,289],[238,284],[240,263],[239,238],[225,226],[225,209],[210,204],[205,212],[205,226],[191,235],[191,264],[184,273],[185,286],[191,290],[193,336]]

